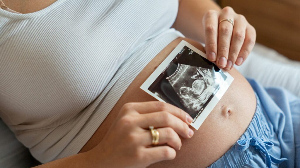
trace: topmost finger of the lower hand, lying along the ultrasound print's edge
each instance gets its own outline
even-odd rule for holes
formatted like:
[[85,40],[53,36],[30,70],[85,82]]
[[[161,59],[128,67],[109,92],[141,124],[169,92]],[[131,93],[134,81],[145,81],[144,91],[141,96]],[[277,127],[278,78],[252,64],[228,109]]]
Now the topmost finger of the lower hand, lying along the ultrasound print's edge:
[[160,101],[149,101],[149,102],[142,102],[142,103],[126,103],[129,108],[132,108],[139,112],[140,114],[151,113],[151,112],[159,112],[159,111],[167,111],[174,116],[180,118],[187,124],[190,124],[193,121],[193,118],[190,117],[189,114],[184,112],[182,109],[173,106],[169,103],[164,103]]

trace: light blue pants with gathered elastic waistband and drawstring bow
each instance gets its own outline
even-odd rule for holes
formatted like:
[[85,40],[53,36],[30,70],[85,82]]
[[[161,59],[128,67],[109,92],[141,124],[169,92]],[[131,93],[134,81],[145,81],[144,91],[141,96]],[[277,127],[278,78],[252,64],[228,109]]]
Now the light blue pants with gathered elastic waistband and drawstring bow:
[[248,79],[256,111],[239,140],[209,166],[300,168],[300,99],[283,88],[263,88]]

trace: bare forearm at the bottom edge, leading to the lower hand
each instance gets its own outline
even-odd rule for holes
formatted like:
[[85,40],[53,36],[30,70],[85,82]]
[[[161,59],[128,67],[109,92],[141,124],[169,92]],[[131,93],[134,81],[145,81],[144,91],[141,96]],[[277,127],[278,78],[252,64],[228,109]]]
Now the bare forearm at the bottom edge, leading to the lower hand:
[[39,166],[36,166],[34,168],[90,168],[90,167],[99,167],[99,164],[96,163],[99,162],[100,157],[98,159],[95,159],[95,156],[93,156],[89,152],[83,152],[76,155],[72,155],[66,158],[58,159],[55,161],[51,161]]

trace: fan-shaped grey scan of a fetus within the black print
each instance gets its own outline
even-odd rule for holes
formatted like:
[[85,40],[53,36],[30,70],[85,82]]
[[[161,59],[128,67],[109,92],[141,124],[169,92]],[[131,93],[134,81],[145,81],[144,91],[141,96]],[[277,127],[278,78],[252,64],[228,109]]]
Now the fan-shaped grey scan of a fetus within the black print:
[[190,115],[198,113],[209,97],[224,81],[213,69],[178,64],[176,71],[166,78]]

